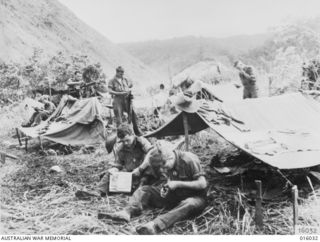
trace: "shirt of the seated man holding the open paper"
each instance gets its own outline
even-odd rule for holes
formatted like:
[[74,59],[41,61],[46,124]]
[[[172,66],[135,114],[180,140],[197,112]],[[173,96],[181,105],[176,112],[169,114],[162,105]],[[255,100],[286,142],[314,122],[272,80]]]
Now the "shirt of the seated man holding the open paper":
[[139,167],[145,155],[152,148],[150,142],[144,137],[136,137],[130,148],[120,144],[116,150],[116,161],[114,167],[128,172]]

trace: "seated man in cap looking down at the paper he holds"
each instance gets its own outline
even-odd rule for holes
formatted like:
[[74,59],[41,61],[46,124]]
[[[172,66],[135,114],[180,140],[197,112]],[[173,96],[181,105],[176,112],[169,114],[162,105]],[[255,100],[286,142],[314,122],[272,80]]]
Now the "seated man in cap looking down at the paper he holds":
[[[146,154],[152,148],[146,138],[134,135],[129,124],[121,124],[117,128],[117,137],[120,140],[120,144],[115,148],[115,162],[98,184],[101,196],[105,196],[108,193],[110,173],[117,171],[132,172],[141,165]],[[152,173],[151,171],[146,171],[144,175],[141,181],[135,179],[134,183],[138,185],[138,183],[147,182],[147,178],[150,178]],[[138,177],[135,176],[135,178]]]

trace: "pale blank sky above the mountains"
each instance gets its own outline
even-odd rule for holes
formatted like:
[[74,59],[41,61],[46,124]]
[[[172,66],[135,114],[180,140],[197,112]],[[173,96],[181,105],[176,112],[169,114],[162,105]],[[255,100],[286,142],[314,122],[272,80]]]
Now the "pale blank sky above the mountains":
[[59,0],[115,43],[263,33],[320,15],[320,0]]

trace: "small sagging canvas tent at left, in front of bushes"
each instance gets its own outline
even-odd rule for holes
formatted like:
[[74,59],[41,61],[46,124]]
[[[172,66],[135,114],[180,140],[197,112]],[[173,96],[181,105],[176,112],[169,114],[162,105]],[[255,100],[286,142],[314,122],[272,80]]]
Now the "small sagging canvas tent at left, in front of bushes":
[[104,138],[101,104],[97,98],[70,101],[64,96],[56,111],[38,126],[19,128],[29,138],[47,139],[63,145],[88,145]]

